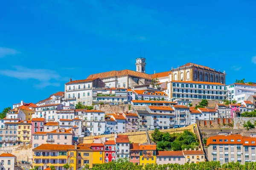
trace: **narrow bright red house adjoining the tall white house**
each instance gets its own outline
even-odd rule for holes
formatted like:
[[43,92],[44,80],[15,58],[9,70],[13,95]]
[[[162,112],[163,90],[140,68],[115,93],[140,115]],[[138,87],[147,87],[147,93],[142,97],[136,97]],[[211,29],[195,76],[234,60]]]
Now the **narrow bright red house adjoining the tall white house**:
[[105,142],[105,163],[116,160],[116,142],[109,140]]

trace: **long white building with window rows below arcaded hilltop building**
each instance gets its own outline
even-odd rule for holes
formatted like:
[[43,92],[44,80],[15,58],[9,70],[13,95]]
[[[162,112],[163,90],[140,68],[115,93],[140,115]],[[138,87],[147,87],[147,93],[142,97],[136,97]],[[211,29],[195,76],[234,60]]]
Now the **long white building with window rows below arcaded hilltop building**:
[[226,86],[218,82],[172,81],[170,99],[226,99]]

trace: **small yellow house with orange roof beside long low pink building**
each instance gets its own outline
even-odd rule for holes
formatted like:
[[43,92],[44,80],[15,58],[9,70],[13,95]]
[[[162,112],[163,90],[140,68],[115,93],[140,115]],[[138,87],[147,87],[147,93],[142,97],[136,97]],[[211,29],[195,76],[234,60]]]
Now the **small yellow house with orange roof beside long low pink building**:
[[157,146],[155,144],[140,145],[140,165],[155,164],[157,160],[156,150]]

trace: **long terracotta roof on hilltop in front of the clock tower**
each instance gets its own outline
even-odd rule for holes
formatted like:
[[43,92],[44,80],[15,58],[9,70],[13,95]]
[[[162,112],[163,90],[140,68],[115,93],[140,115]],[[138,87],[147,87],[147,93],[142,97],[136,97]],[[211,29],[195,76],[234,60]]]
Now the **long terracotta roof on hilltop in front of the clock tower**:
[[141,73],[138,71],[132,71],[132,70],[121,70],[121,71],[108,71],[98,74],[91,74],[87,79],[95,79],[95,78],[108,78],[108,77],[122,77],[122,76],[133,76],[133,77],[140,77],[145,79],[152,79],[152,76],[150,74]]

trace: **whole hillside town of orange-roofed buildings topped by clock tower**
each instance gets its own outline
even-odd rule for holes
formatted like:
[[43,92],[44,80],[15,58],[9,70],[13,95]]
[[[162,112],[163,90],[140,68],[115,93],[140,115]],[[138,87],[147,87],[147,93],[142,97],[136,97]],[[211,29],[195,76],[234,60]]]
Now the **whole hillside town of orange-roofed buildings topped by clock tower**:
[[[37,170],[84,170],[119,159],[142,167],[255,162],[256,131],[234,131],[238,119],[244,120],[237,129],[254,127],[250,125],[254,118],[245,125],[248,116],[244,114],[255,113],[255,83],[238,80],[226,85],[225,71],[193,63],[154,74],[146,73],[143,57],[135,65],[136,71],[70,79],[64,91],[37,103],[22,99],[14,103],[0,119],[0,147],[28,146],[31,150],[18,158],[10,151],[2,153],[1,168],[19,169],[20,161]],[[207,128],[215,133],[202,132]],[[184,130],[195,143],[176,146]],[[175,140],[163,138],[168,135]]]

